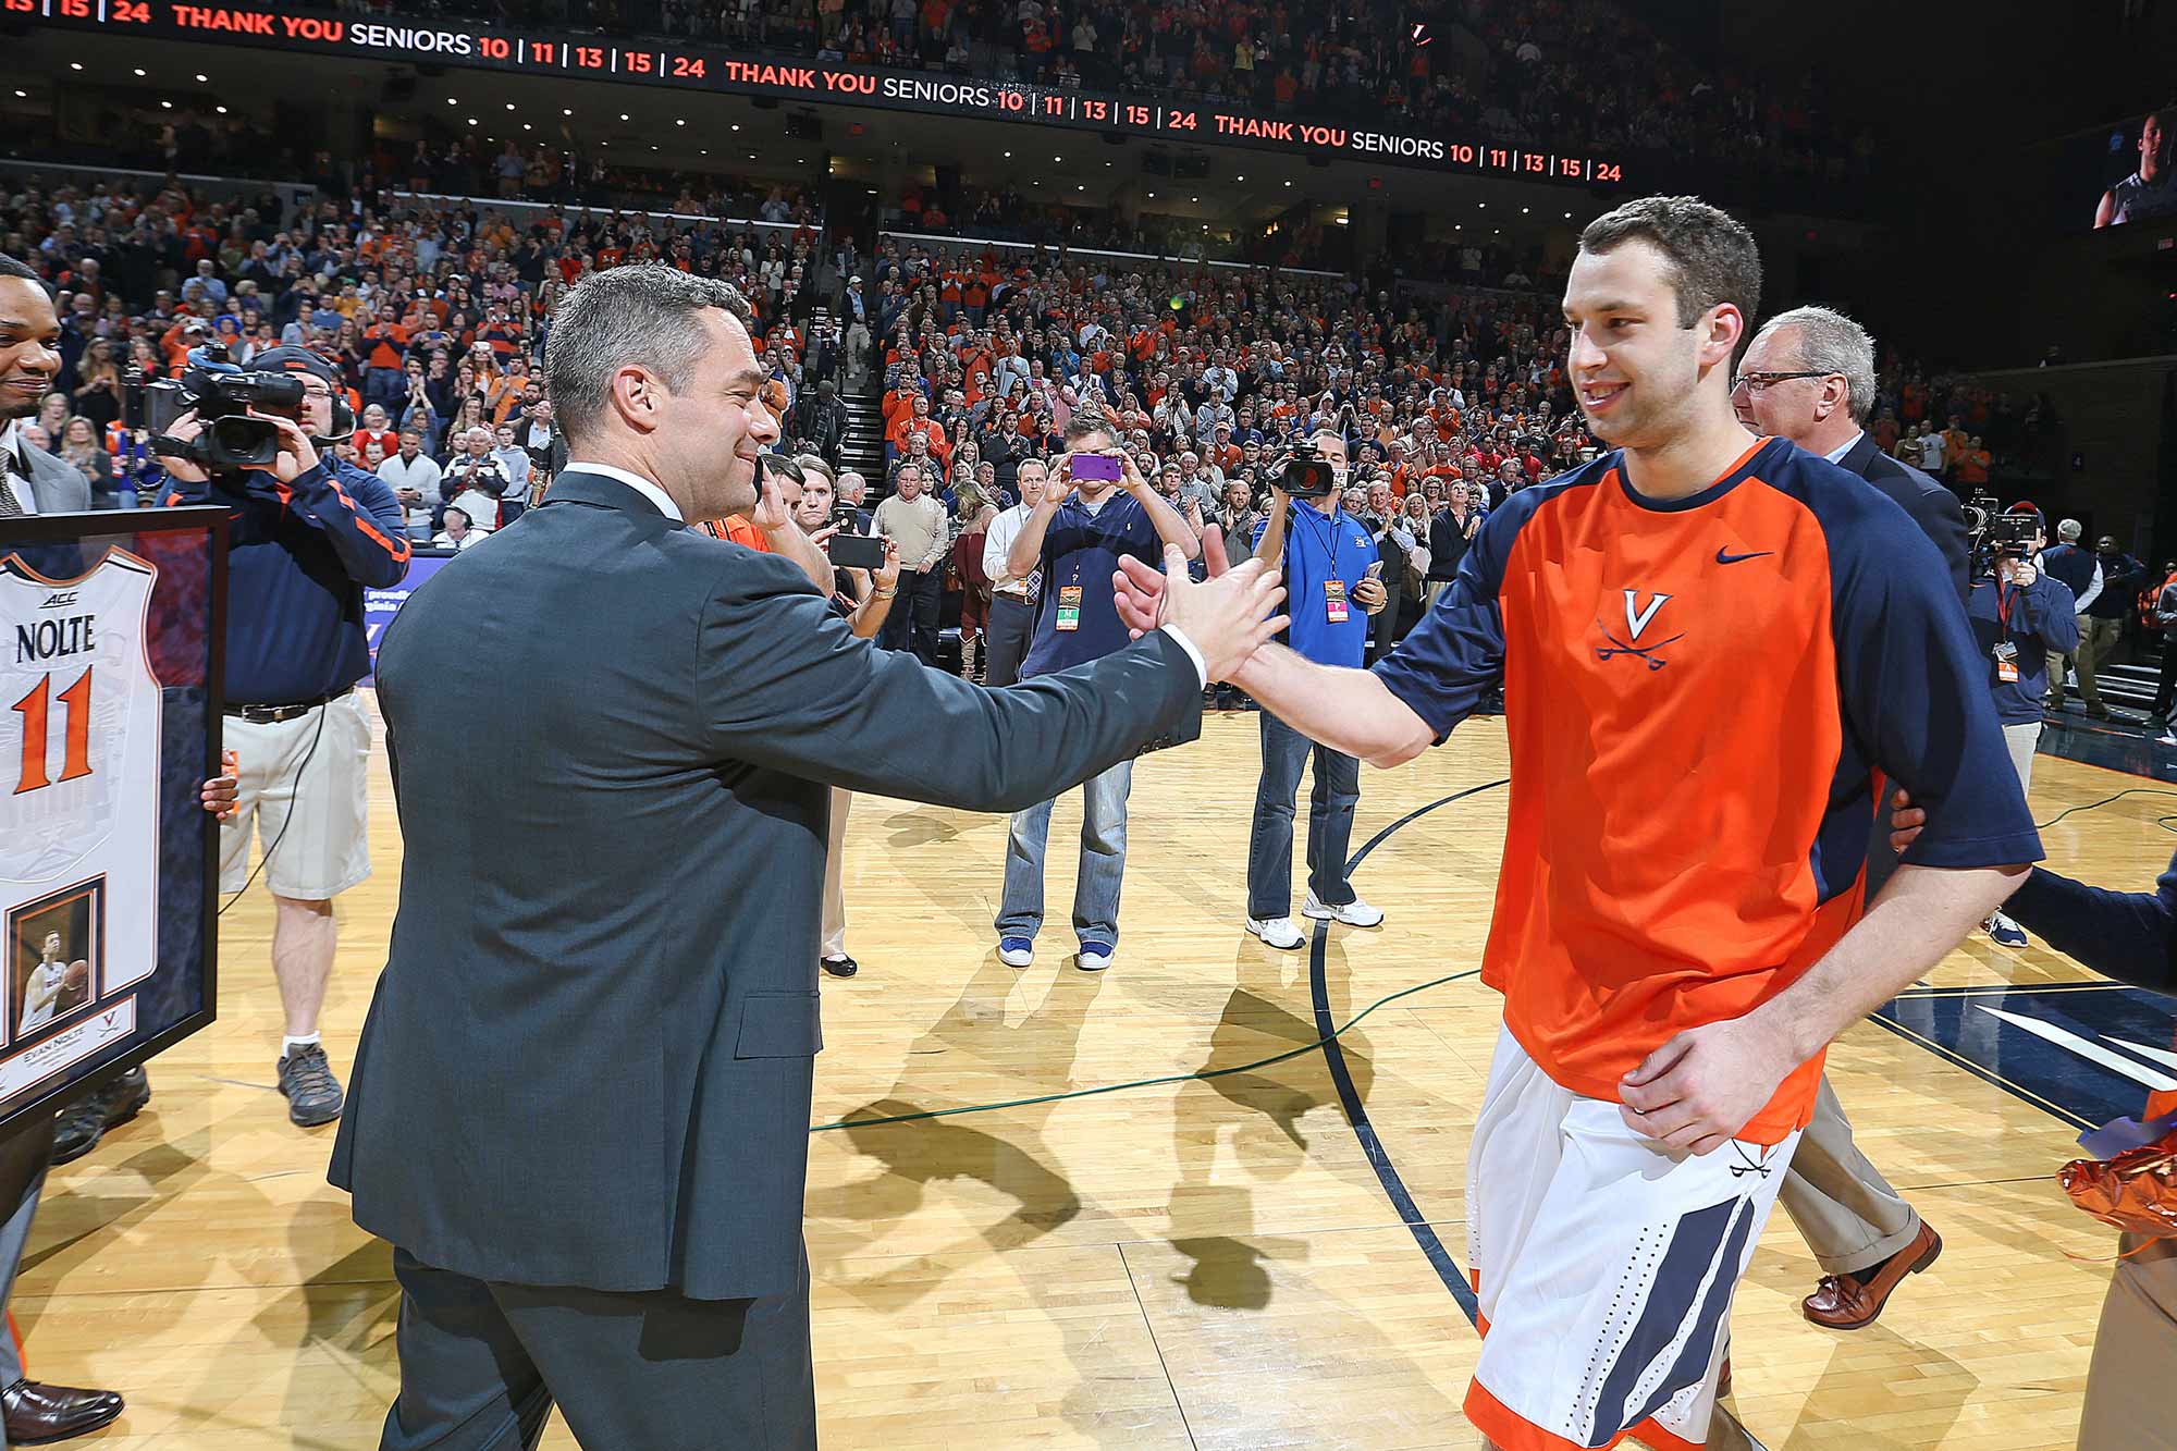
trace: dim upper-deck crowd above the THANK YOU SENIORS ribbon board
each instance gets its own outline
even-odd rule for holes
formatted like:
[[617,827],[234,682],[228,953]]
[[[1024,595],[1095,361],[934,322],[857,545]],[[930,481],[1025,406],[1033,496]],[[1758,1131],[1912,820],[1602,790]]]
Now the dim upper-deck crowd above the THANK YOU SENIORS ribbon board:
[[1618,0],[355,0],[355,9],[577,24],[777,54],[1221,100],[1280,115],[1552,150],[1644,148],[1853,174],[1864,129],[1809,78],[1718,68]]

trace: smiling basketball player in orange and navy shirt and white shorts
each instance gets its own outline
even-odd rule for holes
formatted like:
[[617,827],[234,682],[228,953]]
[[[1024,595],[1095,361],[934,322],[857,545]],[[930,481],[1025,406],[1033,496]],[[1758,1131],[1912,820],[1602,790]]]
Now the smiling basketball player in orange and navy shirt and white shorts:
[[[1567,373],[1611,451],[1511,495],[1374,671],[1271,645],[1237,675],[1380,767],[1504,688],[1483,959],[1504,1026],[1467,1155],[1485,1447],[1709,1440],[1720,1327],[1824,1046],[2040,856],[1933,545],[1731,412],[1759,290],[1752,235],[1694,198],[1591,222]],[[1141,627],[1147,571],[1121,573]],[[1929,808],[1946,834],[1861,915],[1874,771],[1957,815]]]

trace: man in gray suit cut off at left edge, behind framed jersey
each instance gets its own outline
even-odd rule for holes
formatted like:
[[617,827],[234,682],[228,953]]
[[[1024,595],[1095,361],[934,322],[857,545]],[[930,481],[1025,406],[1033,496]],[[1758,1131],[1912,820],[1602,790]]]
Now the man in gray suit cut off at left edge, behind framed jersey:
[[[22,420],[37,414],[61,375],[61,318],[44,279],[0,255],[0,521],[24,514],[78,514],[91,508],[81,473],[33,449]],[[0,529],[7,525],[0,523]],[[0,1135],[0,1314],[15,1290],[15,1266],[37,1218],[37,1196],[52,1161],[52,1113],[15,1120]],[[24,1379],[15,1338],[0,1333],[0,1425],[11,1444],[39,1444],[96,1431],[122,1414],[111,1390],[72,1390]]]

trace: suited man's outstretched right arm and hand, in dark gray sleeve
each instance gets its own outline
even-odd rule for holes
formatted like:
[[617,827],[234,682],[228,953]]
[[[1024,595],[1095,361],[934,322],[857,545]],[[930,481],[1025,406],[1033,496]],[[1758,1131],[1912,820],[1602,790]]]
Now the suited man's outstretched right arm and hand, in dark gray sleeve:
[[851,791],[967,810],[1021,810],[1165,734],[1202,732],[1202,686],[1284,627],[1256,564],[1206,584],[1184,551],[1165,627],[1102,660],[984,691],[856,638],[784,560],[721,558],[697,630],[708,743]]

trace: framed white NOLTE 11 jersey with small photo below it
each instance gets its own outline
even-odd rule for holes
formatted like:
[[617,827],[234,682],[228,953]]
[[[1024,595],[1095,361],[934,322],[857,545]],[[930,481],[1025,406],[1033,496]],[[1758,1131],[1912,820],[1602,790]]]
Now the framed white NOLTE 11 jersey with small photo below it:
[[213,1020],[226,512],[0,519],[0,1124]]

